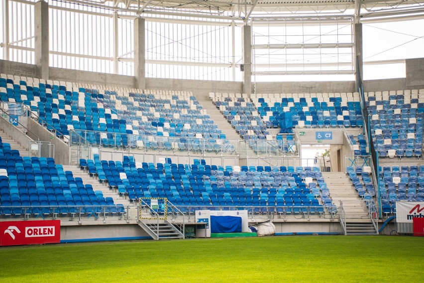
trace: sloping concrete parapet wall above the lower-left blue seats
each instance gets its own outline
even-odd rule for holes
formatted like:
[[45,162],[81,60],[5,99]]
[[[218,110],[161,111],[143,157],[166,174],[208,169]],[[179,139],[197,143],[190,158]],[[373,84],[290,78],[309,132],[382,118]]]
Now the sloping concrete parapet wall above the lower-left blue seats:
[[[68,144],[57,138],[55,134],[42,127],[33,119],[28,119],[28,129],[37,135],[40,141],[51,142],[54,144],[54,158],[56,164],[70,164],[70,149]],[[53,140],[51,137],[53,137]]]

